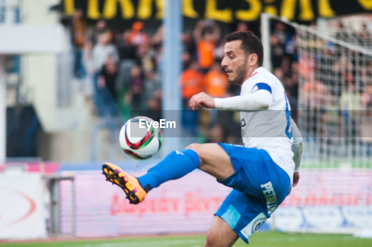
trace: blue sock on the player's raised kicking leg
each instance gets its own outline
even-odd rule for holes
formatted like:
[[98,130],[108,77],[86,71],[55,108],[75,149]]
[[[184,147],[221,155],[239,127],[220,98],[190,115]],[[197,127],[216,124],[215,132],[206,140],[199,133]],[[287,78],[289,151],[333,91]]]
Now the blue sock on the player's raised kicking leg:
[[185,176],[199,167],[199,156],[191,149],[182,152],[173,151],[157,165],[150,168],[147,174],[137,178],[146,192],[158,187],[163,182]]

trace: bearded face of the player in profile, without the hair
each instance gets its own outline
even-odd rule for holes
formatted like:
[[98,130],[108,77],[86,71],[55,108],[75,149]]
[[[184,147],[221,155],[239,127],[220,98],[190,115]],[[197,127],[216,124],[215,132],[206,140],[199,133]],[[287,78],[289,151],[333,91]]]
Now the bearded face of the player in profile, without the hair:
[[241,49],[241,40],[226,42],[224,55],[221,66],[224,67],[228,81],[230,83],[243,83],[247,75],[248,65],[247,54]]

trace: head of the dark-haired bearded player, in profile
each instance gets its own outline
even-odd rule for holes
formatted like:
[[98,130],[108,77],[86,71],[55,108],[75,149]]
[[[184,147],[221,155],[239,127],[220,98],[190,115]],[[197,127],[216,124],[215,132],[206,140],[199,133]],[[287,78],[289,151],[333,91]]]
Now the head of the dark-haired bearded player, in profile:
[[226,36],[224,67],[230,83],[243,83],[257,67],[262,66],[263,47],[252,32],[235,32]]

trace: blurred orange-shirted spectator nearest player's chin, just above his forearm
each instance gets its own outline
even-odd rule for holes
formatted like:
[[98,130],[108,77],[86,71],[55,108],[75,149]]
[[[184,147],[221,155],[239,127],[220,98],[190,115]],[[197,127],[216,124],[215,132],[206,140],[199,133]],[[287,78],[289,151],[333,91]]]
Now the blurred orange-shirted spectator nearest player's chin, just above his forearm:
[[229,82],[221,64],[214,62],[211,69],[204,76],[205,92],[213,98],[224,98]]

